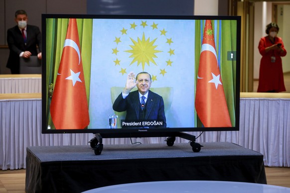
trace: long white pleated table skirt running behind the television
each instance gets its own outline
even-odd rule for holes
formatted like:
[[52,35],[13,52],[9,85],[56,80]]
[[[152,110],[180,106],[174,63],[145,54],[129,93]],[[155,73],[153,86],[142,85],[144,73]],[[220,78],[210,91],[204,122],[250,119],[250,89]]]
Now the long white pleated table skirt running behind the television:
[[[0,97],[0,169],[26,168],[28,146],[88,145],[85,134],[41,134],[41,98]],[[15,98],[15,97],[11,97]],[[192,132],[198,136],[201,132]],[[133,138],[133,142],[164,143],[165,137]],[[266,166],[290,167],[290,98],[240,99],[240,131],[208,131],[197,142],[233,142],[264,155]],[[178,142],[188,142],[176,138]],[[105,144],[130,144],[130,138],[103,139]],[[202,151],[202,148],[201,148]],[[94,151],[92,150],[92,155]]]

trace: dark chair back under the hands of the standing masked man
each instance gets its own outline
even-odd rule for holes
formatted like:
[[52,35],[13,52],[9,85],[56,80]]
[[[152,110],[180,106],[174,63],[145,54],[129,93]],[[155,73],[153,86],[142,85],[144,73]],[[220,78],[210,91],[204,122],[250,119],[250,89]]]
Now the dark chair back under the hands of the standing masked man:
[[20,57],[20,74],[41,74],[41,60],[37,56]]

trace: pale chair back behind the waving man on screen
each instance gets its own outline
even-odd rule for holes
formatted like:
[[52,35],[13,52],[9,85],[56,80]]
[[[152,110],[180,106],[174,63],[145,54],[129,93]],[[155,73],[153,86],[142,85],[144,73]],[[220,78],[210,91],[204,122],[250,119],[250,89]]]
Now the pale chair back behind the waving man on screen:
[[[112,105],[114,104],[114,101],[116,100],[116,98],[122,93],[123,89],[124,89],[124,87],[112,87],[111,88]],[[132,91],[136,91],[136,90],[137,90],[137,88],[134,88]],[[150,91],[160,95],[163,98],[164,111],[165,111],[165,115],[166,115],[166,112],[170,109],[170,106],[172,103],[173,88],[172,87],[150,88]],[[126,112],[115,111],[115,114],[118,115],[117,128],[121,128],[121,126],[120,126],[121,120],[125,119]]]

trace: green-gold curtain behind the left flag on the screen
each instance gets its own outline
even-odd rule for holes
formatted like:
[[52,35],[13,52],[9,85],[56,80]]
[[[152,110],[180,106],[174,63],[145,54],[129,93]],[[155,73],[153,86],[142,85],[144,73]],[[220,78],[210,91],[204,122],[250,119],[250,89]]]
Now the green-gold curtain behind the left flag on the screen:
[[[55,19],[47,18],[46,21],[46,93],[48,94],[49,86],[55,83],[63,45],[66,37],[68,18]],[[90,96],[90,79],[91,79],[91,54],[92,54],[92,30],[93,19],[77,19],[81,57],[83,62],[84,77],[86,83],[87,98]],[[52,87],[53,88],[53,85]],[[49,114],[49,102],[46,104],[48,124],[53,125]]]

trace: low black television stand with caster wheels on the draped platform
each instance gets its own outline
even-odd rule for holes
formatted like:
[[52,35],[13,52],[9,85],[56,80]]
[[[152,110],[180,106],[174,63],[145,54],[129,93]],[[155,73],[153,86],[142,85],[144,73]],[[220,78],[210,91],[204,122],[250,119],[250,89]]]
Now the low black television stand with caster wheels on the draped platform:
[[[93,139],[89,141],[90,146],[93,148],[95,155],[100,155],[103,151],[103,138],[126,138],[126,137],[167,137],[166,144],[167,146],[173,146],[176,137],[187,139],[190,141],[190,146],[192,147],[193,152],[199,152],[202,145],[195,142],[195,136],[184,133],[184,132],[154,132],[154,133],[95,133]],[[168,137],[169,136],[169,137]]]

